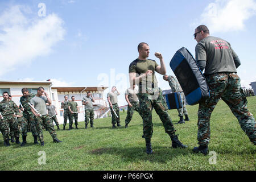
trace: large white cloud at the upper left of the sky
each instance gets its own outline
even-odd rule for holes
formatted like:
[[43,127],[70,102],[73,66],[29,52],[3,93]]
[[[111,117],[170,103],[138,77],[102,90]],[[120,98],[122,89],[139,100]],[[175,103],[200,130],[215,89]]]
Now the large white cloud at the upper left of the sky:
[[63,20],[56,14],[28,18],[31,10],[13,6],[0,15],[0,76],[30,63],[38,56],[48,55],[65,30]]

